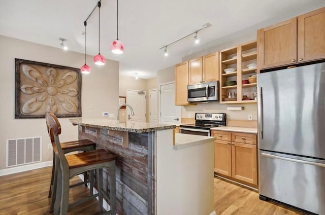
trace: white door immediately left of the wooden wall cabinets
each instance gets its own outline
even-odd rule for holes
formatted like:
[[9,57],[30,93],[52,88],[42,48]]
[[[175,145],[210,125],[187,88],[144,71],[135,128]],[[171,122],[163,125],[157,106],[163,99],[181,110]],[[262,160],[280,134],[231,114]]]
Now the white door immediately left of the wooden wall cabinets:
[[181,107],[175,105],[175,82],[160,85],[160,123],[180,124]]

